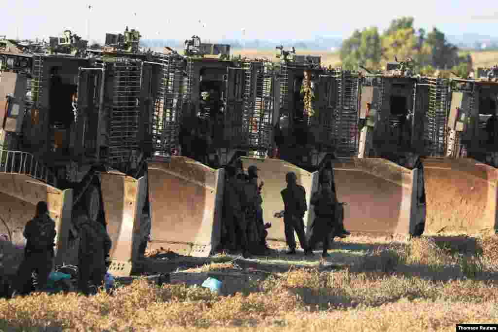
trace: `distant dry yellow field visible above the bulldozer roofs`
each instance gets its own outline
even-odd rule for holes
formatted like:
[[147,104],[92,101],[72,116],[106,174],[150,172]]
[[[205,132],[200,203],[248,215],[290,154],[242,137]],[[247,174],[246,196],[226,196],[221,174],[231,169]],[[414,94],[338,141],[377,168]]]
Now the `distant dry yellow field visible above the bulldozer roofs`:
[[[233,55],[241,55],[250,59],[254,58],[266,58],[268,60],[275,61],[275,55],[278,50],[275,51],[259,51],[259,50],[233,50]],[[313,50],[296,50],[297,54],[312,54],[322,56],[322,65],[324,66],[340,66],[341,59],[338,52],[332,51],[313,51]],[[467,53],[467,52],[463,52]],[[472,51],[470,52],[472,60],[474,62],[474,68],[478,67],[491,67],[498,64],[498,51]]]

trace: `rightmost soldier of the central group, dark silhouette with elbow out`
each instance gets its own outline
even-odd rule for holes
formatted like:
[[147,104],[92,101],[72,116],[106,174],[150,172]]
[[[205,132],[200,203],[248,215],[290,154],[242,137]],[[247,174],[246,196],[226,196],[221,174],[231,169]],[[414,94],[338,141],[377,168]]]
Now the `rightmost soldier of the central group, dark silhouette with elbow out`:
[[330,181],[322,181],[321,190],[313,194],[311,204],[315,206],[315,221],[313,221],[313,234],[309,239],[309,248],[313,250],[319,241],[323,241],[322,257],[327,257],[330,245],[330,234],[340,233],[340,226],[335,221],[337,206],[336,197],[331,189]]

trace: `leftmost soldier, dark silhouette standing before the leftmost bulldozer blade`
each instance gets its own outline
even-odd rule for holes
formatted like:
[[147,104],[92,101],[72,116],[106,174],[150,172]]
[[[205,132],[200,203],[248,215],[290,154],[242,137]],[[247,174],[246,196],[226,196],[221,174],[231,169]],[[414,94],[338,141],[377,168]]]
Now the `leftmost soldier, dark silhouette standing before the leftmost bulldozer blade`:
[[31,273],[36,271],[37,290],[46,288],[48,276],[53,268],[55,246],[55,221],[48,216],[47,203],[40,201],[36,205],[35,217],[24,227],[26,247],[24,260],[17,271],[16,293],[28,294],[32,289]]

